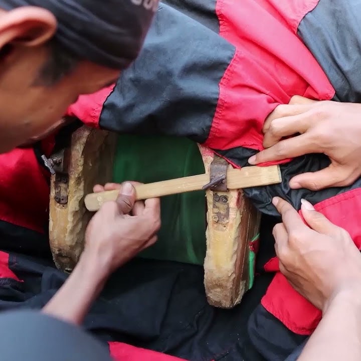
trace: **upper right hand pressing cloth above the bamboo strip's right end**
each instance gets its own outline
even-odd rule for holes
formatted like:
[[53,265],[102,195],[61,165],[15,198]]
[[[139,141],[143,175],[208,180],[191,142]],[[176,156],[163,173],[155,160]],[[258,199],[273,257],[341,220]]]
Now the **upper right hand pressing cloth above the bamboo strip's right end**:
[[349,186],[361,175],[360,117],[361,104],[294,96],[289,104],[279,105],[267,118],[263,127],[266,149],[252,156],[249,163],[324,153],[330,158],[330,165],[294,176],[290,188],[317,191]]

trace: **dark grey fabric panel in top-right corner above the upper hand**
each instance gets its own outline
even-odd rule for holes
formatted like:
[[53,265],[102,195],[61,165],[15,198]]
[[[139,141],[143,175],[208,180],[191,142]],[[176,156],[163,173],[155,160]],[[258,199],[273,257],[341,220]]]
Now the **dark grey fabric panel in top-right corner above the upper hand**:
[[334,87],[334,100],[361,102],[361,2],[319,0],[298,35]]

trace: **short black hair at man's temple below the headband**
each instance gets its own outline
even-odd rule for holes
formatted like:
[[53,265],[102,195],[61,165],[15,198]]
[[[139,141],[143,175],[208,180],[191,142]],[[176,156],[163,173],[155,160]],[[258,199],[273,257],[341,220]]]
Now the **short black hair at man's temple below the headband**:
[[33,85],[52,86],[69,75],[79,64],[80,58],[63,47],[55,38],[47,44],[49,56],[41,67]]

